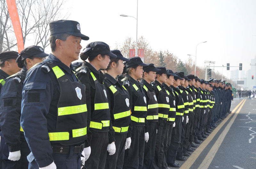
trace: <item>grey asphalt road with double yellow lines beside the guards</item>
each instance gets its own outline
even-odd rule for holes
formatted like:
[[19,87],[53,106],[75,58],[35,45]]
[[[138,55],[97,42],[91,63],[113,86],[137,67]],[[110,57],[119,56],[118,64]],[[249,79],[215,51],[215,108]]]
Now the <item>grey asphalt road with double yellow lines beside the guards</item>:
[[219,124],[219,129],[187,161],[176,161],[181,168],[256,169],[256,99],[244,100],[234,99],[230,110],[236,108],[235,112]]

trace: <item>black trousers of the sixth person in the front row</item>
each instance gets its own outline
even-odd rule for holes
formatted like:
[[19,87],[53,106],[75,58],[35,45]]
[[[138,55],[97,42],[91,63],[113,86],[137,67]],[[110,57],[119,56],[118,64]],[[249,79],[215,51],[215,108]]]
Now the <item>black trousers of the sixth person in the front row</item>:
[[162,168],[164,158],[164,138],[166,135],[167,120],[159,118],[156,134],[156,150],[153,168]]

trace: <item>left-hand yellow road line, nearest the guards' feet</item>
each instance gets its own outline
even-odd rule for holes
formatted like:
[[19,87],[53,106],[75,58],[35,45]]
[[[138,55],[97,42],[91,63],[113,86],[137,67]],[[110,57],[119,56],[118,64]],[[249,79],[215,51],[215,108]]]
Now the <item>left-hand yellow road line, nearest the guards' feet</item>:
[[[236,109],[242,104],[244,99],[235,107],[235,109],[232,110],[232,113],[236,111]],[[201,152],[204,150],[204,148],[212,141],[213,137],[217,134],[217,132],[221,129],[221,127],[228,121],[228,119],[231,116],[228,115],[227,118],[225,118],[217,127],[215,130],[212,131],[212,133],[204,140],[202,144],[191,154],[191,156],[181,165],[180,169],[187,169],[190,168],[191,165],[194,164],[198,156],[201,154]]]

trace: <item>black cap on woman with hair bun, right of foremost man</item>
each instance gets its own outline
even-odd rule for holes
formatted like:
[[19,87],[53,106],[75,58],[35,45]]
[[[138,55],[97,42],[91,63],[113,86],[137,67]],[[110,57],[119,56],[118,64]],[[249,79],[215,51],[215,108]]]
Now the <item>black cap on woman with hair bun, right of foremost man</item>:
[[108,44],[104,42],[91,42],[89,43],[86,48],[84,48],[82,54],[86,54],[89,57],[90,56],[98,56],[99,54],[101,55],[108,55],[110,58],[117,58],[117,56],[114,53],[110,52]]

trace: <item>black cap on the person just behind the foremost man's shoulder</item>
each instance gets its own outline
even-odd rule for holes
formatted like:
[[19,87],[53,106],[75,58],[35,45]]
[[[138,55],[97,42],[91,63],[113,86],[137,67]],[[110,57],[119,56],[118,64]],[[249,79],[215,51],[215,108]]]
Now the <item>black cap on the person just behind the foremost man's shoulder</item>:
[[44,53],[44,49],[41,46],[28,46],[20,52],[20,56],[16,59],[16,62],[18,62],[19,59],[23,61],[31,56],[44,58],[48,55],[49,54]]

